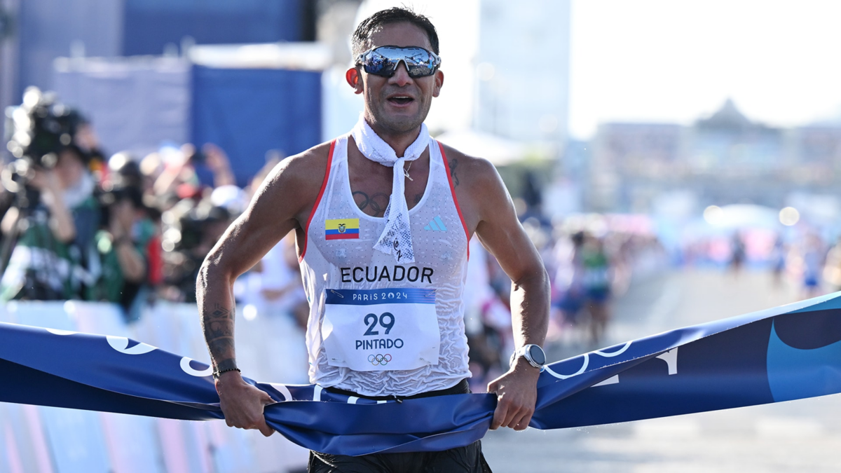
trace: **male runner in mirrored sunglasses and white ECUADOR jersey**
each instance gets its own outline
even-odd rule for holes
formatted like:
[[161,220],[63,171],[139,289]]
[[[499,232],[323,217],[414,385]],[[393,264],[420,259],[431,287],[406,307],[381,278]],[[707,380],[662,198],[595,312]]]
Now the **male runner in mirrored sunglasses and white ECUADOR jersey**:
[[[489,383],[491,428],[523,430],[545,363],[549,284],[495,168],[429,138],[441,92],[438,38],[403,8],[374,13],[352,38],[347,82],[365,109],[346,136],[283,160],[198,276],[198,307],[229,426],[271,435],[272,402],[236,368],[237,276],[295,231],[309,304],[309,379],[370,399],[468,392],[463,302],[473,234],[513,281],[516,360]],[[464,59],[467,61],[467,59]],[[458,61],[452,58],[450,61]],[[310,454],[310,471],[488,471],[479,442],[444,452]]]

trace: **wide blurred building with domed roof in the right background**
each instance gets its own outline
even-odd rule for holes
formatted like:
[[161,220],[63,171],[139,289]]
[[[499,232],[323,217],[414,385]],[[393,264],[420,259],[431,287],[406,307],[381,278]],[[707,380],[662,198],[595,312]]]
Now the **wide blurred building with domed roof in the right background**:
[[773,128],[731,100],[690,126],[604,124],[592,146],[592,210],[648,212],[674,192],[698,205],[781,208],[794,194],[837,194],[841,183],[841,126]]

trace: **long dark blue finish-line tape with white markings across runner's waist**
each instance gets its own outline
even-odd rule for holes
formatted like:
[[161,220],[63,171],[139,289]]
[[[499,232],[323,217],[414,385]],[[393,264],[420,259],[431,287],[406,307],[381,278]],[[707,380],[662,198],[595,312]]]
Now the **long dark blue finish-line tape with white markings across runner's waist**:
[[[0,322],[0,402],[220,419],[207,364],[124,337]],[[269,426],[327,454],[437,451],[488,431],[492,394],[368,401],[257,383]],[[841,292],[547,364],[529,426],[569,428],[841,392]]]

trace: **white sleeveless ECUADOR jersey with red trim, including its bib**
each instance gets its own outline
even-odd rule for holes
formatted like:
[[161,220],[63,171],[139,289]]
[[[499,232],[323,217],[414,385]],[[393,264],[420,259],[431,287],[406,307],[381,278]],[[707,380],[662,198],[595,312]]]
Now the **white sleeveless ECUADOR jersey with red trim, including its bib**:
[[411,396],[470,376],[462,290],[468,232],[447,157],[430,141],[429,180],[410,211],[415,263],[373,249],[385,219],[360,210],[348,136],[331,144],[300,260],[309,300],[309,380],[365,396]]

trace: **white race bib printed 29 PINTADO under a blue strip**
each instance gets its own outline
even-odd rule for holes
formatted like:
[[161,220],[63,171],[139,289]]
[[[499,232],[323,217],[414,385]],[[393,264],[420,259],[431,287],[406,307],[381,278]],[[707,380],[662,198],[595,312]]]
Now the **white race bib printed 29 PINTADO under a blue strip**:
[[327,364],[355,371],[438,364],[435,290],[327,290],[321,322]]

